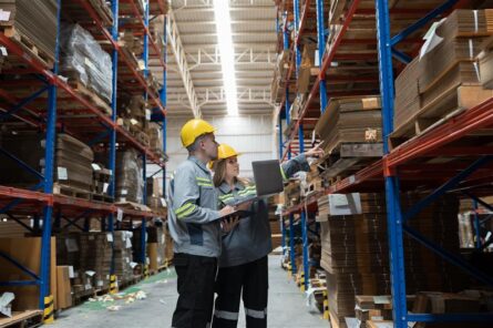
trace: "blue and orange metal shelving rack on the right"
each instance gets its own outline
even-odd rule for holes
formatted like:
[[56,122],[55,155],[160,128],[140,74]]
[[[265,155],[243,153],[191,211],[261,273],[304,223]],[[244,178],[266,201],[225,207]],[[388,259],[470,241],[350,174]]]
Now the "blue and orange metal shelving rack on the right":
[[[338,96],[338,93],[327,93],[326,85],[326,71],[330,66],[331,62],[336,59],[337,51],[341,44],[345,33],[348,30],[351,21],[358,14],[374,14],[377,21],[377,47],[379,54],[379,81],[380,81],[380,95],[382,99],[382,125],[384,136],[384,156],[368,165],[363,170],[355,173],[353,175],[343,178],[325,192],[320,192],[317,195],[312,195],[309,198],[301,202],[301,204],[287,208],[284,216],[289,216],[289,227],[292,232],[294,214],[299,213],[304,230],[306,227],[306,216],[308,212],[316,211],[317,199],[327,194],[336,193],[350,193],[350,192],[378,192],[386,189],[387,198],[387,213],[388,213],[388,230],[389,230],[389,252],[390,252],[390,271],[392,284],[392,303],[393,303],[393,318],[394,327],[404,328],[408,327],[408,322],[431,322],[431,321],[487,321],[493,320],[492,314],[454,314],[454,315],[427,315],[427,314],[410,314],[407,309],[405,299],[405,276],[404,276],[404,262],[403,262],[403,235],[408,234],[411,238],[415,239],[420,244],[428,247],[431,252],[443,257],[445,260],[459,266],[461,269],[471,274],[474,278],[485,285],[493,285],[493,277],[490,277],[482,271],[477,270],[461,257],[454,254],[450,254],[448,250],[439,247],[432,240],[427,239],[419,232],[409,227],[405,222],[411,219],[414,215],[419,214],[423,208],[430,205],[436,197],[443,195],[455,188],[461,182],[468,180],[468,177],[486,178],[491,176],[493,167],[487,166],[489,162],[493,158],[493,150],[487,146],[469,146],[464,147],[458,142],[464,140],[468,134],[479,132],[481,129],[493,126],[493,99],[485,101],[484,103],[470,109],[459,114],[453,120],[449,120],[443,124],[430,130],[400,146],[390,150],[388,144],[388,136],[393,131],[393,69],[394,63],[392,59],[409,63],[412,59],[410,55],[398,51],[394,45],[399,42],[405,41],[405,39],[412,35],[414,32],[428,27],[434,19],[446,16],[453,9],[463,8],[469,4],[470,1],[448,0],[443,1],[441,6],[435,9],[410,9],[410,10],[389,10],[388,1],[376,0],[374,9],[360,9],[359,4],[362,1],[353,0],[350,2],[348,10],[346,11],[345,19],[340,32],[333,39],[332,47],[329,51],[326,51],[326,22],[325,22],[325,8],[322,0],[316,0],[316,19],[317,19],[317,42],[319,49],[319,63],[320,73],[315,81],[309,96],[300,111],[298,121],[292,124],[292,129],[289,131],[289,137],[283,141],[283,115],[286,117],[286,124],[290,126],[289,117],[289,89],[290,76],[292,71],[299,66],[299,42],[300,38],[308,34],[305,30],[306,20],[309,17],[310,1],[305,1],[302,8],[302,14],[300,16],[300,3],[298,0],[294,0],[292,7],[286,4],[281,7],[279,4],[279,12],[283,13],[283,24],[279,28],[284,30],[284,50],[294,50],[295,59],[289,61],[289,70],[287,71],[286,81],[286,95],[281,101],[281,107],[285,106],[285,111],[278,113],[278,129],[279,129],[279,157],[285,160],[289,158],[294,151],[295,139],[298,136],[298,150],[302,151],[304,145],[304,122],[307,113],[312,110],[312,102],[315,101],[317,93],[320,96],[320,113],[323,113],[323,109],[327,105],[327,96]],[[368,4],[368,3],[367,3]],[[392,14],[409,14],[410,17],[418,17],[415,22],[409,24],[403,31],[391,37],[391,17]],[[288,17],[292,17],[294,30],[295,30],[295,44],[289,48],[287,31]],[[353,40],[356,42],[358,40]],[[368,40],[361,40],[369,42]],[[420,45],[419,40],[408,40],[408,43],[417,43]],[[419,47],[417,48],[419,50]],[[413,51],[417,52],[417,51]],[[352,93],[350,95],[356,95]],[[296,150],[295,150],[296,151]],[[423,157],[438,157],[438,156],[454,156],[462,160],[471,160],[469,164],[462,163],[453,167],[446,167],[446,165],[420,165],[415,161]],[[480,171],[483,170],[483,171]],[[418,178],[417,178],[418,176]],[[407,213],[402,213],[400,207],[400,191],[403,187],[412,187],[413,183],[425,185],[433,192],[422,201],[417,203]],[[465,184],[465,186],[469,186]],[[491,192],[490,192],[491,194]],[[493,207],[485,202],[481,201],[477,195],[468,193],[469,197],[472,197],[474,202],[479,202],[483,207],[493,209]],[[283,216],[281,215],[281,216]],[[486,219],[491,218],[489,216]],[[477,225],[477,224],[476,224]],[[286,225],[281,219],[283,236],[286,236]],[[477,229],[477,227],[476,227]],[[476,232],[477,234],[477,232]],[[291,258],[291,271],[296,273],[295,265],[295,250],[294,238],[290,235],[290,258]],[[308,256],[306,234],[302,234],[304,238],[304,268],[305,277],[308,277]],[[284,246],[286,243],[284,242]],[[480,247],[480,245],[476,245]],[[306,287],[308,287],[308,279],[305,280]]]

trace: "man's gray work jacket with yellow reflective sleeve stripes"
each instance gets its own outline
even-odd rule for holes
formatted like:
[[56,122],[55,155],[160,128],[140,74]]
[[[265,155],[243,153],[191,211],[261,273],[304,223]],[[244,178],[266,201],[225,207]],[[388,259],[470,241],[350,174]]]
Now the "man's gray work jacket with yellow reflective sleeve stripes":
[[189,156],[170,181],[167,222],[175,253],[219,257],[217,204],[210,172],[203,162]]

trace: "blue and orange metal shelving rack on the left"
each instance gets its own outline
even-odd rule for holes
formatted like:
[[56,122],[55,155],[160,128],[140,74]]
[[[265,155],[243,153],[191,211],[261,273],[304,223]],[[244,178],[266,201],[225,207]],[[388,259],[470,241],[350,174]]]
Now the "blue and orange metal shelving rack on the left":
[[[29,55],[19,44],[12,42],[7,38],[3,32],[0,32],[0,44],[3,45],[10,55],[16,55],[19,61],[27,64],[28,69],[12,70],[12,72],[2,72],[2,74],[22,74],[37,78],[38,82],[29,82],[29,86],[38,86],[39,91],[34,92],[32,95],[24,99],[17,99],[9,94],[9,92],[0,89],[0,96],[12,104],[12,109],[2,114],[3,116],[12,116],[21,120],[33,126],[34,129],[40,129],[45,132],[45,174],[42,175],[38,173],[34,168],[27,165],[20,158],[8,154],[6,151],[1,150],[2,153],[14,160],[20,167],[28,172],[37,175],[40,178],[40,183],[30,189],[0,186],[0,214],[6,214],[12,221],[19,223],[24,228],[34,234],[41,234],[41,267],[40,273],[32,273],[29,268],[25,268],[14,258],[10,258],[8,255],[0,253],[0,256],[4,257],[11,264],[17,266],[24,274],[30,276],[32,280],[18,280],[18,281],[0,281],[0,286],[39,286],[39,308],[45,310],[45,318],[50,320],[51,316],[47,312],[45,306],[50,305],[52,296],[50,295],[50,238],[52,235],[52,226],[61,228],[61,218],[63,217],[68,224],[64,228],[69,226],[75,226],[82,230],[89,229],[88,218],[90,215],[101,215],[102,216],[102,227],[109,233],[114,233],[115,225],[119,224],[117,219],[142,219],[142,240],[141,245],[141,264],[146,269],[146,257],[145,257],[145,228],[146,222],[153,217],[162,216],[160,213],[153,212],[142,212],[136,209],[129,209],[120,207],[113,203],[103,203],[96,201],[89,201],[75,197],[63,196],[59,194],[53,194],[53,167],[54,167],[54,145],[57,140],[58,131],[65,131],[75,136],[84,135],[86,136],[88,131],[90,132],[92,140],[88,143],[90,145],[104,143],[109,148],[109,161],[107,167],[113,173],[113,178],[110,182],[109,194],[114,196],[115,185],[114,185],[114,172],[115,172],[115,157],[116,157],[116,145],[124,144],[130,147],[137,150],[143,160],[143,175],[144,175],[144,202],[145,202],[145,178],[146,178],[146,165],[147,163],[153,163],[161,166],[161,170],[165,170],[165,156],[153,153],[146,145],[142,144],[134,136],[132,136],[122,126],[117,125],[116,119],[116,95],[117,85],[120,81],[119,66],[125,65],[130,71],[135,81],[135,85],[132,90],[137,90],[137,92],[144,93],[146,98],[151,99],[154,110],[152,113],[152,121],[157,122],[162,126],[163,132],[163,151],[166,152],[166,23],[164,24],[164,50],[160,51],[155,40],[153,40],[150,29],[148,21],[151,14],[162,14],[166,13],[165,0],[146,0],[145,10],[142,14],[137,8],[136,1],[138,0],[112,0],[111,11],[113,13],[113,25],[105,27],[99,14],[91,7],[89,1],[85,0],[74,0],[73,2],[80,6],[80,12],[89,17],[91,20],[89,31],[99,41],[105,41],[111,47],[110,54],[113,62],[113,93],[111,98],[111,115],[103,113],[94,103],[83,98],[81,94],[76,93],[69,83],[66,83],[61,76],[58,75],[58,61],[60,55],[60,16],[61,6],[63,1],[58,0],[58,35],[57,35],[57,48],[55,48],[55,61],[54,69],[49,70],[45,64],[39,61],[37,58]],[[130,12],[123,12],[120,8],[120,3],[125,3],[130,6]],[[151,8],[152,12],[151,12]],[[144,38],[144,53],[143,60],[145,63],[144,75],[141,75],[137,68],[130,61],[125,52],[119,44],[119,17],[121,16],[133,16],[137,19],[138,24],[135,27],[125,27],[125,29],[131,29],[134,33],[140,33]],[[152,49],[152,53],[150,51]],[[145,78],[147,76],[148,58],[150,53],[157,58],[160,64],[163,68],[163,88],[156,94],[153,92]],[[14,83],[14,81],[9,81]],[[22,81],[21,83],[27,84],[28,82]],[[32,85],[31,85],[32,84]],[[21,85],[24,86],[24,85]],[[1,86],[0,86],[1,88]],[[126,91],[127,92],[127,91]],[[48,93],[48,100],[43,99],[42,95]],[[58,113],[64,110],[63,102],[69,99],[73,104],[79,105],[79,110],[86,114],[91,114],[91,120],[84,120],[81,117],[65,117],[61,120],[58,117]],[[45,111],[45,121],[43,122],[40,115],[33,115],[38,121],[28,117],[24,113],[34,113],[30,110],[30,104],[38,101],[39,103],[48,102]],[[81,125],[79,129],[78,126]],[[163,182],[164,177],[163,175]],[[163,183],[163,194],[165,184]],[[42,191],[39,191],[41,189]],[[145,203],[144,203],[145,204]],[[22,221],[18,219],[14,214],[31,215],[34,222],[34,228],[28,226]],[[53,219],[54,216],[54,219]],[[70,218],[69,218],[70,217]],[[117,219],[116,219],[117,218]],[[80,219],[85,219],[84,226],[78,224]],[[43,223],[43,224],[41,224]],[[50,224],[45,224],[50,223]],[[111,273],[112,279],[114,273],[114,258],[112,260]]]

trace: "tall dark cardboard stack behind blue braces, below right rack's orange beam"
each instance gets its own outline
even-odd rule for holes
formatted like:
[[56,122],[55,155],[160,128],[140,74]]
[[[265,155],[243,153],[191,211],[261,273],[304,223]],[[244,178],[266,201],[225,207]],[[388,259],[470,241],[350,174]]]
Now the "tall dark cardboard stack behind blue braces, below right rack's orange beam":
[[[417,194],[405,194],[402,207],[405,211],[420,198]],[[458,201],[443,197],[410,219],[409,225],[458,254]],[[322,197],[318,219],[321,221],[321,266],[327,270],[331,320],[346,327],[346,318],[355,317],[356,295],[391,291],[384,197],[381,194]],[[408,294],[456,291],[468,283],[451,265],[409,237],[404,237],[404,256]]]

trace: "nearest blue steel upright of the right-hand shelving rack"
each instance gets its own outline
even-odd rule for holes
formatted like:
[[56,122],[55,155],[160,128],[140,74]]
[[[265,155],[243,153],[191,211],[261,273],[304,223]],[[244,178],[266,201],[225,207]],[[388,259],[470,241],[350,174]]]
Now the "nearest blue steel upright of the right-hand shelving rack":
[[[382,101],[383,151],[389,153],[388,136],[393,131],[393,72],[390,38],[389,6],[376,0],[377,40],[379,53],[380,94]],[[405,271],[403,253],[402,213],[399,199],[399,181],[394,172],[386,176],[387,221],[390,252],[390,275],[396,328],[408,327],[405,303]]]

